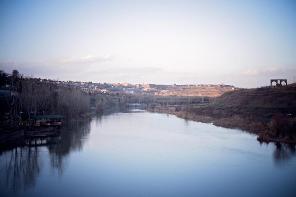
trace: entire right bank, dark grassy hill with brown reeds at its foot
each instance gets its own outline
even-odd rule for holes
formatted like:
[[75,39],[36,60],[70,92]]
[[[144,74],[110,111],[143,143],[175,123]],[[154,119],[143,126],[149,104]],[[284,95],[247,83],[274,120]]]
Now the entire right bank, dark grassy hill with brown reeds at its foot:
[[238,128],[258,135],[260,142],[296,143],[295,98],[295,87],[240,89],[226,92],[203,106],[152,104],[146,110]]

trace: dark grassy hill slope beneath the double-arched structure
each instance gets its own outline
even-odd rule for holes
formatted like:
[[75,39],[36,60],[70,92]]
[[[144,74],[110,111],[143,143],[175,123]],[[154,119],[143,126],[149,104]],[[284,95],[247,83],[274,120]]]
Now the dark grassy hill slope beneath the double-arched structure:
[[213,108],[296,108],[296,88],[238,89],[222,94],[206,105]]

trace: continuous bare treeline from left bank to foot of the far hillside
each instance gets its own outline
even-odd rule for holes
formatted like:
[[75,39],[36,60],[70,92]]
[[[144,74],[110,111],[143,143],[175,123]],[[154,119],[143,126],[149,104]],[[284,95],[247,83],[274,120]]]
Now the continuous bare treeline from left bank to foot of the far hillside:
[[123,107],[131,103],[184,105],[201,104],[212,100],[209,97],[199,96],[159,96],[100,91],[91,93],[79,86],[64,87],[50,79],[24,77],[17,70],[13,70],[12,74],[0,70],[0,87],[0,113],[1,115],[9,113],[11,126],[18,126],[22,121],[30,121],[32,115],[62,115],[69,122],[89,115],[91,109],[100,113],[106,108]]

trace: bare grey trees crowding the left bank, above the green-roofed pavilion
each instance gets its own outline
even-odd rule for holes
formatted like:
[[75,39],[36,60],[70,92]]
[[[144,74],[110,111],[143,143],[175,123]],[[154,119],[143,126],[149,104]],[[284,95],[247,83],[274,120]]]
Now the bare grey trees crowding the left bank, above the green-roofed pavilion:
[[28,120],[31,115],[40,112],[59,114],[67,120],[73,120],[89,111],[89,94],[81,89],[39,82],[36,78],[20,75],[17,70],[13,70],[11,75],[0,71],[0,78],[2,84],[9,84],[2,94],[1,105],[6,102],[14,125],[22,122],[23,113]]

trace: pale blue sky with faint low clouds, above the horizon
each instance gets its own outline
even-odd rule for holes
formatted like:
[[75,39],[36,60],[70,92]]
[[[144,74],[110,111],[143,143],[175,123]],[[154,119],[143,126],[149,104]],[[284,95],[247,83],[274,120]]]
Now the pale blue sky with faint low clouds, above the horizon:
[[2,1],[0,70],[258,87],[296,76],[296,1]]

